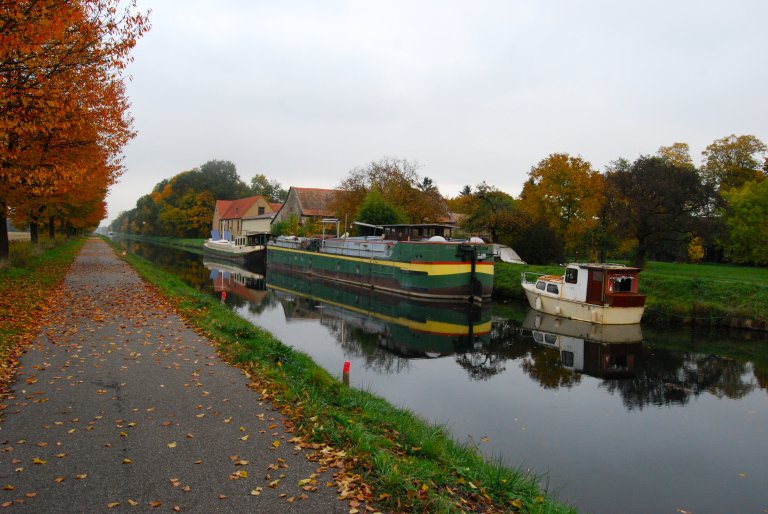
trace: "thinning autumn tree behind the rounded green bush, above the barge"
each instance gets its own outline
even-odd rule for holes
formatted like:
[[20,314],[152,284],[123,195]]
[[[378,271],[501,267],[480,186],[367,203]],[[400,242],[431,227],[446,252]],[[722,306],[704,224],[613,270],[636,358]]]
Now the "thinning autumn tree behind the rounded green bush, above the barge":
[[448,214],[440,191],[428,177],[419,176],[418,164],[405,159],[385,158],[355,168],[338,186],[332,208],[340,219],[354,217],[371,189],[397,206],[409,223],[436,222]]

